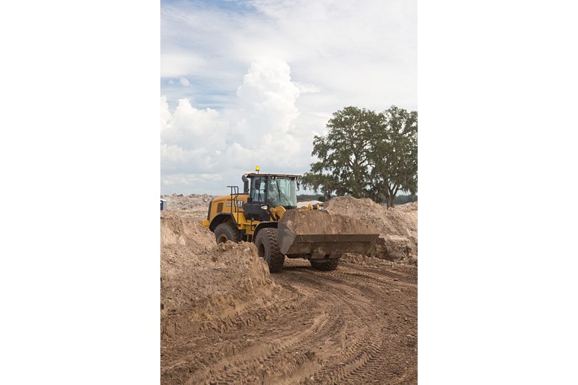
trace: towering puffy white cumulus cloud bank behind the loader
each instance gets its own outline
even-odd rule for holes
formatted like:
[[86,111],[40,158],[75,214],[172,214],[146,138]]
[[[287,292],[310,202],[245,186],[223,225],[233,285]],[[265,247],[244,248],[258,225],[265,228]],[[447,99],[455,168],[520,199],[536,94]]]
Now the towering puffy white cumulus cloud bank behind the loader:
[[224,192],[223,179],[239,184],[242,173],[256,165],[266,172],[302,172],[310,162],[312,134],[295,129],[299,94],[289,65],[266,58],[250,64],[233,109],[197,109],[184,98],[170,111],[162,96],[162,186],[190,192],[202,181],[198,192]]

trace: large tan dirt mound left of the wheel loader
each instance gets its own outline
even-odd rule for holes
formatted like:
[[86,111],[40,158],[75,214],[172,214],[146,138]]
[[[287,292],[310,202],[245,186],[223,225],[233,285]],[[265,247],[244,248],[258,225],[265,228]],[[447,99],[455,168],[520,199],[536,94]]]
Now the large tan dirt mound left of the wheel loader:
[[162,338],[266,307],[277,287],[252,243],[215,244],[199,221],[161,212]]

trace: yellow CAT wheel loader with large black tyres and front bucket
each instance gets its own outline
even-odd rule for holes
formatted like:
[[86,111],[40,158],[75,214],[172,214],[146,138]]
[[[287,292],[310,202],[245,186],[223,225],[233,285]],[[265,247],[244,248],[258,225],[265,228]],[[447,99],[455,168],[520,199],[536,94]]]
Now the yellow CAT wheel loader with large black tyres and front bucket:
[[[243,192],[237,186],[229,195],[208,203],[202,225],[215,234],[217,243],[253,242],[269,265],[280,272],[285,257],[309,259],[312,267],[334,270],[347,252],[367,253],[378,234],[297,234],[279,221],[287,210],[297,210],[299,175],[247,173]],[[299,210],[315,210],[309,205]]]

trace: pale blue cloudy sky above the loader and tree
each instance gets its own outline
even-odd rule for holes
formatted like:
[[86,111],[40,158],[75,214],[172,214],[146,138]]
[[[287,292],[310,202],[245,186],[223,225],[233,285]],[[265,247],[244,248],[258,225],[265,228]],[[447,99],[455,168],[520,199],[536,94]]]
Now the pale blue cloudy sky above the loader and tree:
[[162,1],[161,192],[305,173],[355,105],[417,109],[416,1]]

